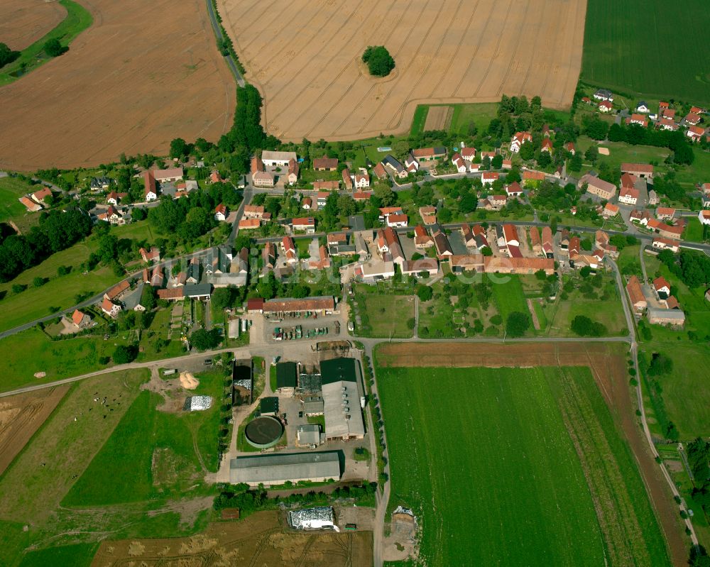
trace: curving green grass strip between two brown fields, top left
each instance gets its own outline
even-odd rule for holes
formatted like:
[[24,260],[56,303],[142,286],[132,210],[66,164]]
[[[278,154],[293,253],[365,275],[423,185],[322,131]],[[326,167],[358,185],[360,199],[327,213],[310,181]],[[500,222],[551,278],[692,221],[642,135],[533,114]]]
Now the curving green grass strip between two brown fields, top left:
[[[50,39],[58,39],[64,46],[69,45],[77,35],[92,25],[94,18],[81,4],[72,0],[59,0],[67,9],[67,16],[52,31],[46,33],[32,45],[21,51],[20,57],[10,65],[6,65],[0,72],[0,85],[16,81],[31,70],[50,60],[44,54],[44,44]],[[24,67],[24,72],[18,72]]]

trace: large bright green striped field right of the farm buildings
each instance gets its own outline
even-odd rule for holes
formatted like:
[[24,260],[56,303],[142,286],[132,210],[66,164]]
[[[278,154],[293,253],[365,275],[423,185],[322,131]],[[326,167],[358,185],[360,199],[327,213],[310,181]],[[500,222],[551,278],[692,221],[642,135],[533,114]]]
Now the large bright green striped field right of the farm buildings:
[[381,368],[378,390],[422,563],[669,564],[588,369]]

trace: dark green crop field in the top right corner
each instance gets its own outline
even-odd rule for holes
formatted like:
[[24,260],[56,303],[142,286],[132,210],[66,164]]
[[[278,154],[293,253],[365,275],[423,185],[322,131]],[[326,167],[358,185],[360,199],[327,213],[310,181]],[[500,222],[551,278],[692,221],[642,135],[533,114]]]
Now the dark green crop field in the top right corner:
[[[633,18],[630,25],[629,18]],[[582,80],[628,94],[710,104],[706,0],[589,0]]]

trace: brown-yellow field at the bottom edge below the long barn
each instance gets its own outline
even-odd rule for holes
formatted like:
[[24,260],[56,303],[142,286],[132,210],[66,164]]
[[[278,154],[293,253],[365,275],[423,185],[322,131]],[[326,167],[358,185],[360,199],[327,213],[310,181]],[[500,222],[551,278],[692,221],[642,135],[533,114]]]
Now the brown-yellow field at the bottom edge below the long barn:
[[285,532],[278,512],[256,512],[240,522],[209,524],[207,532],[192,537],[104,541],[92,562],[125,565],[367,567],[372,532]]

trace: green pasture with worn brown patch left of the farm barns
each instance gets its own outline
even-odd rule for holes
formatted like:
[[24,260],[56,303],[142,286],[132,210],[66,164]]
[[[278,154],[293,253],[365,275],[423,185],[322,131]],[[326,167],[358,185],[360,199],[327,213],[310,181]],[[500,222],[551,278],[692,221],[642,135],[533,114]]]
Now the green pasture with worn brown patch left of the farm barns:
[[[62,505],[84,507],[185,495],[217,472],[217,431],[224,376],[197,375],[193,395],[211,395],[204,412],[164,412],[163,397],[143,391]],[[121,483],[114,482],[121,478]]]

